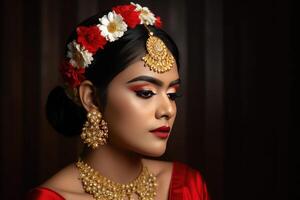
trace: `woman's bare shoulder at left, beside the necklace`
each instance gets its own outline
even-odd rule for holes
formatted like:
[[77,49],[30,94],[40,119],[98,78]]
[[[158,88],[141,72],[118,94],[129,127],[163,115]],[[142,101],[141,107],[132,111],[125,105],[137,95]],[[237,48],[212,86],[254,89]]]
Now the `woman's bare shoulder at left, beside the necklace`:
[[83,196],[86,199],[86,193],[82,189],[74,163],[57,172],[33,192],[43,192],[46,195],[51,193],[51,195],[61,197],[60,199],[81,199]]

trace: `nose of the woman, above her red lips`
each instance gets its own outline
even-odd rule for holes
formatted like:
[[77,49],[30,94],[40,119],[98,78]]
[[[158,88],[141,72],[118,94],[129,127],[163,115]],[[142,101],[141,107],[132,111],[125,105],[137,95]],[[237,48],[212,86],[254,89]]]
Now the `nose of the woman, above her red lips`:
[[157,119],[165,118],[171,119],[176,115],[176,104],[175,101],[169,99],[167,95],[161,95],[158,99],[158,106],[156,109],[155,117]]

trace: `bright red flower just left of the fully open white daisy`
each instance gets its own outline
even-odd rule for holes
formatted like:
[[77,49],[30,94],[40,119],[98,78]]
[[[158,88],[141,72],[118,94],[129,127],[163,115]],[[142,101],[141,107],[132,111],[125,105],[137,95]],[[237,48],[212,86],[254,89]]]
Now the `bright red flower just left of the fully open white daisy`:
[[80,26],[77,31],[77,43],[85,47],[89,52],[95,53],[99,48],[103,49],[106,39],[101,35],[97,26]]

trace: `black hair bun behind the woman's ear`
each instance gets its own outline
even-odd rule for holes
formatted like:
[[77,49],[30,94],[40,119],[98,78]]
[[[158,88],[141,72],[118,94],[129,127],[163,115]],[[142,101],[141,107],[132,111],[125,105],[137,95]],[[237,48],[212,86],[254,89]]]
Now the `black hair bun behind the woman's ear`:
[[48,95],[47,120],[64,136],[79,135],[86,120],[86,111],[66,95],[64,88],[57,86]]

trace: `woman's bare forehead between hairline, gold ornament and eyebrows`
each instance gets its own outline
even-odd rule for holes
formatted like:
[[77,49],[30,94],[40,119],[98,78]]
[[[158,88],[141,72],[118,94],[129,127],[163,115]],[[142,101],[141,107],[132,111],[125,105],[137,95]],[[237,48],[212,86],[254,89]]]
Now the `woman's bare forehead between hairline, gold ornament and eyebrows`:
[[120,72],[112,80],[112,82],[121,81],[121,82],[125,83],[135,77],[138,77],[138,76],[150,76],[150,77],[161,80],[165,84],[169,84],[171,81],[174,81],[179,78],[176,63],[173,65],[171,70],[164,72],[164,73],[157,73],[157,72],[151,71],[149,69],[149,67],[145,67],[144,61],[139,60],[139,61],[136,61],[133,64],[129,65],[122,72]]

